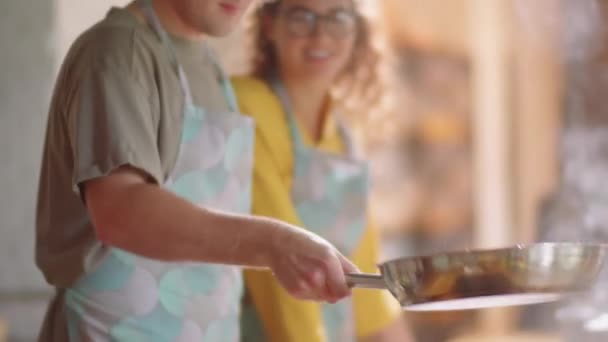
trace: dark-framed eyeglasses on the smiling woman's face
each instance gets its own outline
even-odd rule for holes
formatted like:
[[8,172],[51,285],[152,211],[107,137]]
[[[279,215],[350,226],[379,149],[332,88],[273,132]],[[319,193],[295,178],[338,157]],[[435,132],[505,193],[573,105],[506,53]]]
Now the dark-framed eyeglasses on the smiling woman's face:
[[357,15],[349,10],[336,9],[322,15],[303,7],[292,7],[284,12],[289,34],[303,38],[312,36],[320,27],[334,39],[344,39],[355,33]]

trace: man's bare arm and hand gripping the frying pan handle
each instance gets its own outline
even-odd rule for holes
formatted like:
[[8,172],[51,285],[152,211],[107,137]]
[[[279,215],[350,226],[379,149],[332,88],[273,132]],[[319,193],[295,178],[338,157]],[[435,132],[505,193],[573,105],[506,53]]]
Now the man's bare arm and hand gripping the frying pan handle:
[[334,303],[349,295],[344,274],[357,268],[318,235],[202,209],[149,179],[126,166],[81,184],[101,241],[157,260],[268,267],[300,299]]

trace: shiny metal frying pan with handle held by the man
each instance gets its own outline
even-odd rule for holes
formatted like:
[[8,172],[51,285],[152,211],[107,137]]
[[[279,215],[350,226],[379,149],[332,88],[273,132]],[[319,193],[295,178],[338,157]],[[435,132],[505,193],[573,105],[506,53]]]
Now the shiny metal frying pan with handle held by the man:
[[380,274],[348,274],[350,286],[387,289],[408,311],[467,310],[551,302],[589,290],[606,245],[537,243],[408,257]]

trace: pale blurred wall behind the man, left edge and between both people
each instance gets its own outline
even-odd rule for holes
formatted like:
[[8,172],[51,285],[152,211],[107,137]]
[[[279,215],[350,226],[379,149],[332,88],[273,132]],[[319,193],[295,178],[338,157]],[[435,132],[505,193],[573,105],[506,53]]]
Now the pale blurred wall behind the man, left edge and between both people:
[[[34,341],[50,295],[34,264],[34,215],[47,110],[76,37],[127,0],[0,1],[0,320]],[[231,70],[238,34],[214,40]]]

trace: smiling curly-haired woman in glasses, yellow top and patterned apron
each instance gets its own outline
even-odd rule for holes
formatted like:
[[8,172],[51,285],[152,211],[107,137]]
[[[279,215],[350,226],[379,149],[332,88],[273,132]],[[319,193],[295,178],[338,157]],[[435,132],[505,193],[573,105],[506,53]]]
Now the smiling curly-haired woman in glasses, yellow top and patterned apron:
[[[376,272],[367,166],[354,158],[351,139],[333,116],[346,98],[331,96],[336,88],[366,90],[374,83],[368,27],[355,6],[352,0],[264,3],[252,29],[254,75],[233,84],[240,108],[257,126],[254,213],[306,227],[361,270]],[[269,272],[246,272],[245,278],[246,341],[410,339],[387,291],[357,290],[352,300],[318,304],[290,298]]]

